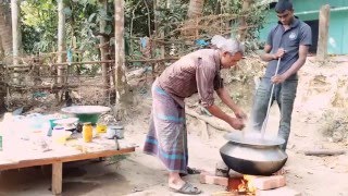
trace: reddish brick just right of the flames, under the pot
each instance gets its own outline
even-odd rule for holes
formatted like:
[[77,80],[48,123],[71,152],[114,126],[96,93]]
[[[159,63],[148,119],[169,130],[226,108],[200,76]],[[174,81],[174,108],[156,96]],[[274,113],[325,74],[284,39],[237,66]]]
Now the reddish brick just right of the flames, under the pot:
[[258,176],[252,180],[252,185],[258,189],[273,189],[286,185],[284,175]]

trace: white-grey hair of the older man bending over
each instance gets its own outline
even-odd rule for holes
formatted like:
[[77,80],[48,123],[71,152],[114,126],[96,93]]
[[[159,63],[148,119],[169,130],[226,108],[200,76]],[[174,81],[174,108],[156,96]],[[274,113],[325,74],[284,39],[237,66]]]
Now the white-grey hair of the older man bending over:
[[233,38],[224,38],[221,35],[215,35],[211,39],[211,44],[214,45],[217,49],[222,51],[227,51],[232,54],[237,52],[244,53],[244,46],[236,39]]

